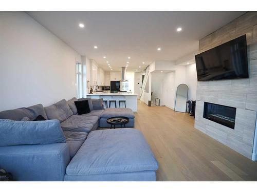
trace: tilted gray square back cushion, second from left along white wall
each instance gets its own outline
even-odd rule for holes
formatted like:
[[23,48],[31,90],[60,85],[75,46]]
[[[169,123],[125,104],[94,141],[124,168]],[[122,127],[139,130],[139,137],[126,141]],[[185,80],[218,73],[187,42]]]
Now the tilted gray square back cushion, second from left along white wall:
[[63,122],[65,119],[73,115],[65,99],[62,99],[50,106],[46,106],[45,112],[48,119],[58,119],[60,122]]

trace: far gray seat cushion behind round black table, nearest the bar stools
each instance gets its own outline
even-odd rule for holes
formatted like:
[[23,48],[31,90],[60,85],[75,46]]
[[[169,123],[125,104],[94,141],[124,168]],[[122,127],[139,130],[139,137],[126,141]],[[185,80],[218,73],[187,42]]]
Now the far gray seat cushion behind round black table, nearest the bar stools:
[[130,108],[107,108],[100,115],[101,118],[110,118],[110,117],[116,117],[116,116],[135,118],[135,115]]

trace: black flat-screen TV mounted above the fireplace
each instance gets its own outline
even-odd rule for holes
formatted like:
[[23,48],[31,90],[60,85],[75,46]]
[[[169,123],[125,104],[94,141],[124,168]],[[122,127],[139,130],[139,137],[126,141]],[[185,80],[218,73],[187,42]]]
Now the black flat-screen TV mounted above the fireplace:
[[195,55],[198,81],[248,78],[246,35]]

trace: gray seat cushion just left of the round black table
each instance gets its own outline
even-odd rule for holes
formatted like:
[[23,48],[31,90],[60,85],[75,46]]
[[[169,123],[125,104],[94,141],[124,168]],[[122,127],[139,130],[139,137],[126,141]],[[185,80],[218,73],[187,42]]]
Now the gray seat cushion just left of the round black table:
[[72,115],[61,123],[63,131],[86,132],[89,133],[93,128],[98,126],[98,117],[83,117]]

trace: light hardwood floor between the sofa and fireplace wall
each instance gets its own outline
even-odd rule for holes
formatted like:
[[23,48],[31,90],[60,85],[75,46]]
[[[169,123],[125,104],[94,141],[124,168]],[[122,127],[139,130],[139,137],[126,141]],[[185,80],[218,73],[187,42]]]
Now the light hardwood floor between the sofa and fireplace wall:
[[196,130],[189,114],[138,101],[135,116],[159,162],[157,181],[257,181],[257,162]]

